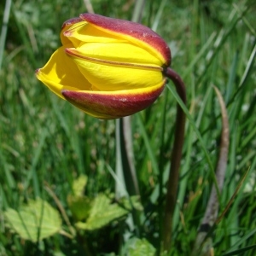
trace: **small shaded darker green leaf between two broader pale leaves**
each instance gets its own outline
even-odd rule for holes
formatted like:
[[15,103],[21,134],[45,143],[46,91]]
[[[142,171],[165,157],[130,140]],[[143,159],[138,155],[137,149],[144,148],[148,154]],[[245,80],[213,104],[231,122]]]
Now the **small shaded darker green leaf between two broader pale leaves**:
[[88,218],[90,214],[91,200],[85,196],[67,196],[67,204],[73,217],[76,220],[83,220]]

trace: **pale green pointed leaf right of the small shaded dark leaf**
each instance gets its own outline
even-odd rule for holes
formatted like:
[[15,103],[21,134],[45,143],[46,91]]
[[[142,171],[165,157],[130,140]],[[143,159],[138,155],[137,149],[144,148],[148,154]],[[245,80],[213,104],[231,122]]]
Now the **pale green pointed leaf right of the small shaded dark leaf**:
[[79,222],[76,226],[82,230],[97,230],[127,213],[128,211],[119,207],[118,204],[111,204],[111,200],[106,195],[98,195],[93,202],[86,223]]

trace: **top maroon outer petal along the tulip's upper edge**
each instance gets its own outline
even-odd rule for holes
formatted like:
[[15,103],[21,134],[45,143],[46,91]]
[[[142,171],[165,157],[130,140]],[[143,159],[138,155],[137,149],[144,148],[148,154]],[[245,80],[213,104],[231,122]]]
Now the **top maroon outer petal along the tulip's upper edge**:
[[82,14],[80,15],[80,18],[92,25],[102,27],[108,31],[116,32],[143,41],[160,52],[160,55],[162,55],[163,59],[165,60],[166,66],[171,64],[170,48],[163,38],[160,38],[157,33],[147,26],[143,26],[128,20],[113,19],[95,14]]

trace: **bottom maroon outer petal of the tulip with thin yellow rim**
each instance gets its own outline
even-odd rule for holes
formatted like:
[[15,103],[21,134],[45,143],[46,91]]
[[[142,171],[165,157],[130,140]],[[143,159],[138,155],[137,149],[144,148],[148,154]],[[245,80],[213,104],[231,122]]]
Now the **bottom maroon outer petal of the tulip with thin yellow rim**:
[[119,92],[96,92],[90,90],[62,90],[68,102],[99,119],[118,119],[144,108],[148,108],[164,89],[166,80],[153,90],[137,93],[141,90],[124,90]]

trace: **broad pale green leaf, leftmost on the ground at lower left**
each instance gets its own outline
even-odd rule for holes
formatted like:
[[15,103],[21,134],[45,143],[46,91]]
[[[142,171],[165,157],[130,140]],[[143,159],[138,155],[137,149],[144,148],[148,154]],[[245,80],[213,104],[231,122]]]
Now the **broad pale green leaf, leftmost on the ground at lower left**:
[[7,209],[4,216],[12,230],[23,239],[38,241],[61,230],[61,217],[48,202],[38,198],[20,211]]

